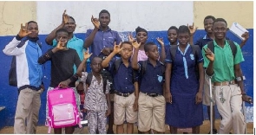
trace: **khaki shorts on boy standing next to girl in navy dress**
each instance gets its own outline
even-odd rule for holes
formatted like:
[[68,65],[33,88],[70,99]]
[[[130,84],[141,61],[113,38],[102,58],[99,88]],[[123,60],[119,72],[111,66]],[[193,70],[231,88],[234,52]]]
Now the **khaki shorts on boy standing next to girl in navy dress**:
[[150,97],[145,93],[139,94],[138,130],[148,132],[165,132],[166,100],[160,95]]

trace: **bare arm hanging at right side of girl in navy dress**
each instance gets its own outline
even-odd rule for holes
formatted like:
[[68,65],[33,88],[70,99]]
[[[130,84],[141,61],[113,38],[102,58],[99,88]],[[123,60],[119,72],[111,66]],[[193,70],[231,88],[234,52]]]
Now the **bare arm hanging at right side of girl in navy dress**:
[[196,93],[195,104],[199,104],[202,101],[203,86],[205,81],[205,73],[204,73],[204,67],[202,62],[198,64],[198,68],[199,68],[200,82],[199,82],[198,93]]

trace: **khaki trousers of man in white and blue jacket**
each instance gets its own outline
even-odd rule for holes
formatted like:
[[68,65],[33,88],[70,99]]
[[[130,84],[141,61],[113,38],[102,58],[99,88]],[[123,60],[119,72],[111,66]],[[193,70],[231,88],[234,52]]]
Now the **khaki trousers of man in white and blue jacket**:
[[30,88],[21,90],[16,104],[14,133],[36,133],[38,113],[41,106],[41,93],[43,93],[42,89],[39,91],[35,91]]

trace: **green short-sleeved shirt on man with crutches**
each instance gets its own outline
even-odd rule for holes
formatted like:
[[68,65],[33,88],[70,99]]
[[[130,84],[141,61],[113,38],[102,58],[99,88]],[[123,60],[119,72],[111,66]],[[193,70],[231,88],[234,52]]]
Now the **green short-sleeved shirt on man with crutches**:
[[[239,44],[235,42],[237,53],[233,59],[232,49],[228,42],[225,43],[224,48],[221,48],[215,40],[213,41],[214,46],[214,62],[213,62],[213,82],[222,82],[234,80],[234,65],[239,64],[241,61],[245,61],[242,55]],[[207,48],[207,45],[204,46]],[[204,56],[204,67],[208,67],[209,60],[205,56],[205,51],[202,50],[202,55]]]

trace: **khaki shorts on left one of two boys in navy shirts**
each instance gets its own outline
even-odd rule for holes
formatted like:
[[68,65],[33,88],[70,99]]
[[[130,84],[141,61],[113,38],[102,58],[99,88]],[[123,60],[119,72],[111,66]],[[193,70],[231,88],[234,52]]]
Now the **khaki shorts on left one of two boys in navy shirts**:
[[134,112],[135,93],[128,97],[115,94],[114,97],[114,124],[122,125],[126,120],[128,123],[135,123],[138,120],[138,112]]

